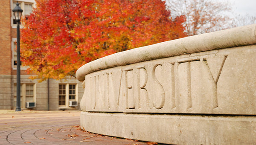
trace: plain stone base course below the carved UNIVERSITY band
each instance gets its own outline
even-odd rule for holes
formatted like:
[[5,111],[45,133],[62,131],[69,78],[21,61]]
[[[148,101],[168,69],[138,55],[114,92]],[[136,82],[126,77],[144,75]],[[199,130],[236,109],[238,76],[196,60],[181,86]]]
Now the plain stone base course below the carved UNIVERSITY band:
[[255,116],[81,112],[81,128],[173,145],[256,144]]

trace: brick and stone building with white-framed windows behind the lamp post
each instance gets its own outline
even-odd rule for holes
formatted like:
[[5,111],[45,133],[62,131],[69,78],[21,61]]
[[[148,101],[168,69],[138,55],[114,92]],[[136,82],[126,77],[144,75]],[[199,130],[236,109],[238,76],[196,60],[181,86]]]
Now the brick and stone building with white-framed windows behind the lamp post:
[[[0,0],[0,109],[16,108],[17,82],[17,24],[12,9],[16,6],[15,0]],[[23,16],[29,15],[36,6],[35,0],[19,0]],[[22,26],[21,26],[22,29]],[[79,102],[83,96],[81,82],[76,78],[65,80],[43,81],[29,79],[25,70],[20,67],[20,107],[22,110],[69,110],[79,109]],[[48,89],[49,88],[49,89]],[[49,100],[48,100],[49,99]],[[30,103],[27,103],[30,102]],[[33,107],[35,102],[35,107]],[[49,103],[48,103],[49,102]],[[70,107],[70,102],[77,102],[77,106]],[[27,105],[31,104],[31,108]]]

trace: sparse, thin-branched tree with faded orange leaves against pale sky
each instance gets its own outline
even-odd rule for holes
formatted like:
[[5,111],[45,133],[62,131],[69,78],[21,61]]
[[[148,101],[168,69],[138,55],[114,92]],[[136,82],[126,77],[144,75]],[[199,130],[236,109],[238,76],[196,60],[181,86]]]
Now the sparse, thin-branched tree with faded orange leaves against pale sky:
[[232,19],[224,12],[231,12],[228,0],[166,0],[172,16],[184,15],[188,36],[232,28]]

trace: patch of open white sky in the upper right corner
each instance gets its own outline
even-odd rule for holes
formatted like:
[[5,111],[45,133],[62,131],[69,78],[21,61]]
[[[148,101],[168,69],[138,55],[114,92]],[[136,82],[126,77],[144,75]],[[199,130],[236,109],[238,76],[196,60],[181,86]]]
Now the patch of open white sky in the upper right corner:
[[230,0],[235,14],[256,16],[256,0]]

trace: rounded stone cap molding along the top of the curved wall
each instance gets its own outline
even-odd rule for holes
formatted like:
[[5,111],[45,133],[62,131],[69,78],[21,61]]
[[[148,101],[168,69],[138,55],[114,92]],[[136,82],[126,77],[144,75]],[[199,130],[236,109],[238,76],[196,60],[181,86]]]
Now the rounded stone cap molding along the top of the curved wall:
[[189,36],[118,52],[84,64],[77,70],[76,78],[83,82],[85,75],[112,67],[253,44],[256,44],[256,24]]

